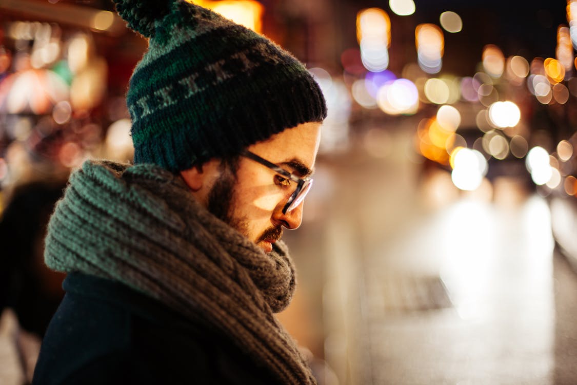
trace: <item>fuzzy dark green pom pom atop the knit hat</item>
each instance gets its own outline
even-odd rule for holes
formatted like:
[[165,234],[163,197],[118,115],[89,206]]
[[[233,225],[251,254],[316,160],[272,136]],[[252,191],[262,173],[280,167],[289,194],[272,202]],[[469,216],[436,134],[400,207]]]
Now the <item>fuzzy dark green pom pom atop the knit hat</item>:
[[151,38],[155,33],[155,21],[170,12],[171,1],[162,0],[114,0],[118,14],[128,23],[128,27]]

